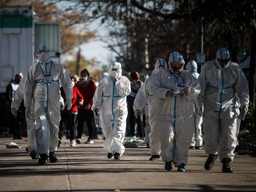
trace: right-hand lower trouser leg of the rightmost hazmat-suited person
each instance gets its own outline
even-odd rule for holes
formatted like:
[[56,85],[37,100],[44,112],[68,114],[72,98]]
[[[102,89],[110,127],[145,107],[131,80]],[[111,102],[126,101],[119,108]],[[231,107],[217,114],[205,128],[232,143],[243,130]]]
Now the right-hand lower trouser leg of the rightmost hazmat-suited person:
[[218,145],[218,154],[220,155],[220,161],[224,158],[229,158],[233,161],[234,151],[237,144],[236,137],[236,115],[234,118],[221,119],[220,138]]

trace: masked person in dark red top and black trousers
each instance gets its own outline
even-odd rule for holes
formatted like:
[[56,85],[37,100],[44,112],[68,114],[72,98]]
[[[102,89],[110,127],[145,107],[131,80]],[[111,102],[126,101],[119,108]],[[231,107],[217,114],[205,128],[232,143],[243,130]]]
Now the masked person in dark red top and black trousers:
[[96,90],[95,83],[89,79],[89,72],[87,69],[83,69],[80,73],[81,78],[79,82],[75,85],[82,94],[84,98],[84,104],[78,109],[78,125],[77,125],[77,140],[76,143],[81,144],[81,137],[83,133],[84,123],[86,122],[89,137],[85,142],[87,144],[93,144],[93,111],[91,111],[91,106],[93,105],[93,96]]

